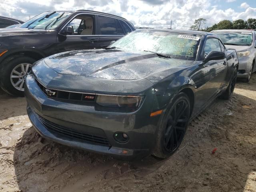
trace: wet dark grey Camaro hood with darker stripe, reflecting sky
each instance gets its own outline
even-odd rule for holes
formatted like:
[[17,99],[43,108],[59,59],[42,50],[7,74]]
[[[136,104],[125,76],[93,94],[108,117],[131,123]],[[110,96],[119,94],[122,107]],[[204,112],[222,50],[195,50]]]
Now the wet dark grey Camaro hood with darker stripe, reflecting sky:
[[150,52],[79,50],[50,56],[44,62],[59,74],[94,78],[136,80],[162,71],[171,75],[192,61],[162,58]]

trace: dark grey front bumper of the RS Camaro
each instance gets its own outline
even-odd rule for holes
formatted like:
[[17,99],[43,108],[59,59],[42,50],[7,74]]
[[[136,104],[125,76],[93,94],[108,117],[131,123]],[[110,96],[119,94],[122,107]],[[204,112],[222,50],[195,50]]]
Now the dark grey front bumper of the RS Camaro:
[[[81,148],[91,152],[116,156],[118,158],[134,158],[147,156],[154,147],[155,132],[161,116],[150,118],[152,106],[142,104],[139,110],[132,113],[97,111],[92,105],[63,102],[48,98],[32,76],[28,76],[25,86],[25,97],[28,102],[27,112],[36,131],[43,137],[68,146]],[[153,98],[147,98],[150,101]],[[149,107],[150,106],[150,107]],[[38,116],[85,134],[101,134],[106,136],[109,145],[86,142],[49,130]],[[129,140],[121,144],[114,140],[114,133],[125,132]]]

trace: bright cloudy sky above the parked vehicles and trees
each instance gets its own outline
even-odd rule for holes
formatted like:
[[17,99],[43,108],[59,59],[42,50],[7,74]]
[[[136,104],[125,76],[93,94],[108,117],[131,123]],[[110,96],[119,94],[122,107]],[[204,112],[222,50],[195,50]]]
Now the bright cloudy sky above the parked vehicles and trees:
[[95,10],[122,16],[134,26],[189,29],[195,19],[203,27],[221,20],[256,18],[256,0],[4,0],[0,15],[26,21],[48,10]]

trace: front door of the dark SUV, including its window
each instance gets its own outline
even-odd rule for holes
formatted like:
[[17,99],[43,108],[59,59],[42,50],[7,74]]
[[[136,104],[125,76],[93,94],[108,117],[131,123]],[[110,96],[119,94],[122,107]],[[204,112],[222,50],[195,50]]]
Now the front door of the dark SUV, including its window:
[[[72,26],[72,34],[65,34],[66,26]],[[58,34],[57,51],[100,48],[96,34],[95,15],[78,14]]]

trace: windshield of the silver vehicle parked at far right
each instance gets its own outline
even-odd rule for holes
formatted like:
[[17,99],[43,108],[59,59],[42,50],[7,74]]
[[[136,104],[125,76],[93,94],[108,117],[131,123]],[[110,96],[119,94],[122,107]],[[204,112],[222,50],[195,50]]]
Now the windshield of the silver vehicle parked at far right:
[[251,32],[214,32],[226,45],[250,46],[252,44]]

